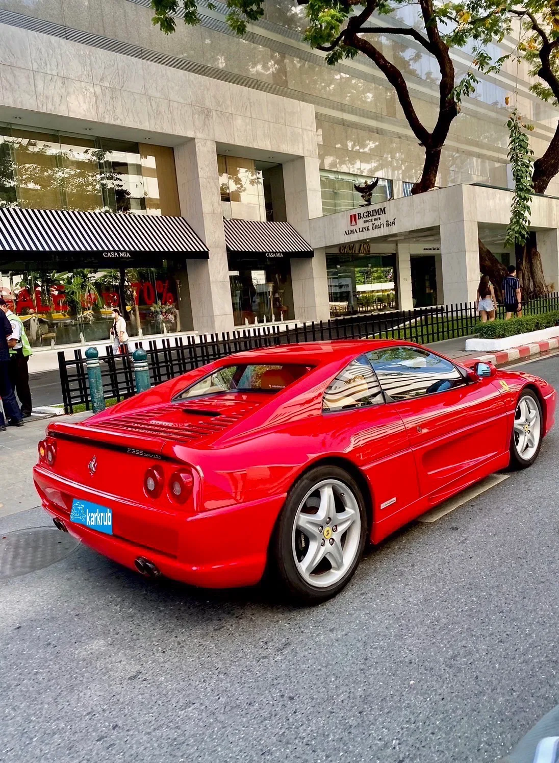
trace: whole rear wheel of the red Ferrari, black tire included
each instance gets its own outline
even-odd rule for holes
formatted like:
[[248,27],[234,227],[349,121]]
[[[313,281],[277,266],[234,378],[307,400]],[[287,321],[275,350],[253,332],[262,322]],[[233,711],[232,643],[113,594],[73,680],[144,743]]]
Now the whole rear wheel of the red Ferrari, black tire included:
[[271,564],[285,595],[320,604],[349,582],[368,533],[357,483],[337,466],[318,466],[293,485],[278,518]]

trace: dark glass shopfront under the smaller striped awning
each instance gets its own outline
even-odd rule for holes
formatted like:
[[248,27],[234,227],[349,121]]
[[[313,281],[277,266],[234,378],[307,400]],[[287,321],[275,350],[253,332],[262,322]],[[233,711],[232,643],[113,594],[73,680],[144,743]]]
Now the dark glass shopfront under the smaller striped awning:
[[242,259],[232,262],[230,259],[229,266],[236,326],[294,320],[289,261],[268,265]]

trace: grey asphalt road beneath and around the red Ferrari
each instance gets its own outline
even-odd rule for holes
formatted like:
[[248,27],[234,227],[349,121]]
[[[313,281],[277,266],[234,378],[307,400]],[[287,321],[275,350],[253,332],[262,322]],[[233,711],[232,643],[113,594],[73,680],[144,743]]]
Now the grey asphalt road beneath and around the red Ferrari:
[[[559,385],[559,357],[527,369]],[[0,759],[493,763],[559,703],[557,447],[559,428],[314,609],[149,584],[81,547],[0,581]]]

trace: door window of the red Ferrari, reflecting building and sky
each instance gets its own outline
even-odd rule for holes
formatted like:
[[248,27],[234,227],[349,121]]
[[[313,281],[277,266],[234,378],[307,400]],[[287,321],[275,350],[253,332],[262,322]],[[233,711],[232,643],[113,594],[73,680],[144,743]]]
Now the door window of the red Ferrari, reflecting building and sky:
[[394,401],[444,392],[465,383],[451,362],[426,349],[387,347],[367,353],[367,357],[384,393]]

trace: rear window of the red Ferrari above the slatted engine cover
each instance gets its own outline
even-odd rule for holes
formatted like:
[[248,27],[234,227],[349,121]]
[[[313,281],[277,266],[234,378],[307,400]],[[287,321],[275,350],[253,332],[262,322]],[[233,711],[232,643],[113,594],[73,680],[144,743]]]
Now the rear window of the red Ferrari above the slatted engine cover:
[[178,400],[200,398],[222,392],[265,392],[274,394],[310,371],[309,365],[226,365],[177,395]]

